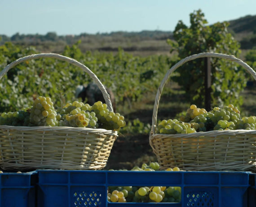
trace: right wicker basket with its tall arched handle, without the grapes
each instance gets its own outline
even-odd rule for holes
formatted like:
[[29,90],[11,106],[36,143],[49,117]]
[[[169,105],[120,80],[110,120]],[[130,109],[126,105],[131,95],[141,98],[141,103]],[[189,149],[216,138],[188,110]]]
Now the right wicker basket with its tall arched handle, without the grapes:
[[163,86],[175,69],[200,57],[217,57],[243,66],[256,79],[256,73],[242,60],[218,53],[199,53],[180,60],[168,70],[157,91],[150,132],[152,147],[162,169],[178,166],[195,171],[246,171],[256,169],[256,130],[224,130],[191,134],[156,134],[157,111]]

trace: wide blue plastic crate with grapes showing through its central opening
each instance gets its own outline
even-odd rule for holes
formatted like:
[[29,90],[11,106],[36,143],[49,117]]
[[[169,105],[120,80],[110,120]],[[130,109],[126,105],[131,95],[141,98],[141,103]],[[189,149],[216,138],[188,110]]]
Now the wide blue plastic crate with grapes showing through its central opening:
[[[249,172],[38,170],[38,207],[247,207]],[[180,186],[180,203],[109,203],[108,186]]]

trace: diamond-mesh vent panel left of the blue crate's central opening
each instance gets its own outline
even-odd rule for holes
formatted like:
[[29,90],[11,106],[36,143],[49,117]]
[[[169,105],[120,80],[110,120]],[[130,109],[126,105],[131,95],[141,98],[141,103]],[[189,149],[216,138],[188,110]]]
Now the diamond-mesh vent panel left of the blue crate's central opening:
[[75,207],[99,207],[101,205],[102,194],[95,191],[87,193],[74,193]]

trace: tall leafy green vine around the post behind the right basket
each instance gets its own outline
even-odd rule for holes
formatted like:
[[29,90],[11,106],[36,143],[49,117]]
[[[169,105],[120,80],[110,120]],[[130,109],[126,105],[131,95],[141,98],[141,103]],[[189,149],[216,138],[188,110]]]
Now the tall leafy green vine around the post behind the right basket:
[[[190,26],[182,21],[177,23],[174,39],[168,39],[173,50],[182,59],[200,52],[218,52],[238,57],[239,43],[228,33],[228,22],[217,22],[207,26],[204,13],[199,9],[190,14]],[[246,85],[244,70],[229,60],[211,58],[212,65],[212,105],[241,105],[239,93]],[[191,103],[203,106],[204,103],[204,62],[196,59],[177,69],[180,77],[173,79],[186,91]]]

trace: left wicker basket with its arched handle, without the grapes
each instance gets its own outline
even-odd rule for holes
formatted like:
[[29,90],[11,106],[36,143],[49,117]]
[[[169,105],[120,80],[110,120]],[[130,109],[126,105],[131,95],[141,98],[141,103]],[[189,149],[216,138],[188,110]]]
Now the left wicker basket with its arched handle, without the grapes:
[[[83,69],[99,86],[107,107],[113,111],[110,96],[97,76],[86,66],[66,56],[41,53],[22,57],[0,72],[0,79],[21,62],[36,58],[64,60]],[[0,126],[0,168],[25,169],[102,169],[117,138],[106,129],[75,127]]]

